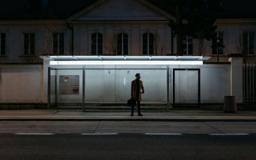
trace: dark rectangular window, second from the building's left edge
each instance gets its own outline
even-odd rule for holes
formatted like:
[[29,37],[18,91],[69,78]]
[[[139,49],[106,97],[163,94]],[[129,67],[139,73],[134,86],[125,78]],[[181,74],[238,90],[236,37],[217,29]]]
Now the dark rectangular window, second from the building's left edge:
[[35,33],[23,33],[24,55],[35,55]]

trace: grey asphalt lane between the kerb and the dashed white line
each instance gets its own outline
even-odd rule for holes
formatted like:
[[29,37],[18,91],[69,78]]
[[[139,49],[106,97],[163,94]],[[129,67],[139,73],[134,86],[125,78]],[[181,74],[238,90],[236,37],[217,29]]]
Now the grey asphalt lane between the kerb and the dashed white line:
[[0,134],[18,132],[83,134],[118,133],[180,133],[241,134],[256,133],[256,122],[108,122],[108,121],[1,121]]

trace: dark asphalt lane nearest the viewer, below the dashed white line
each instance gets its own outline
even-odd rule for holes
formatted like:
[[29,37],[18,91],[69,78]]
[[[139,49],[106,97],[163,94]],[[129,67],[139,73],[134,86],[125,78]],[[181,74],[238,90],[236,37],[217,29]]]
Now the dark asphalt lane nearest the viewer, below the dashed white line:
[[0,159],[256,159],[256,134],[0,134]]

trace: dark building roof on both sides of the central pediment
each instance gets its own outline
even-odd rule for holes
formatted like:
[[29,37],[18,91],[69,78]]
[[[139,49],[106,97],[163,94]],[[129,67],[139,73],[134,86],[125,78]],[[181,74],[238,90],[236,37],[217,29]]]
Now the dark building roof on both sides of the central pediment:
[[[0,20],[65,20],[97,0],[2,0]],[[164,11],[175,15],[172,6],[148,0]],[[214,12],[218,18],[256,18],[256,1],[223,0],[222,11]]]

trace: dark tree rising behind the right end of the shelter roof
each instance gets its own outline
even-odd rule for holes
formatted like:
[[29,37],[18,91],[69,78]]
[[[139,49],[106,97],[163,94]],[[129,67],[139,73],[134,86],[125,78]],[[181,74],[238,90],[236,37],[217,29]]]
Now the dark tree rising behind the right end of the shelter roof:
[[217,28],[214,13],[221,9],[221,0],[161,0],[160,6],[173,8],[176,20],[170,26],[177,38],[177,54],[182,55],[182,40],[185,35],[198,38],[200,43],[211,40]]

